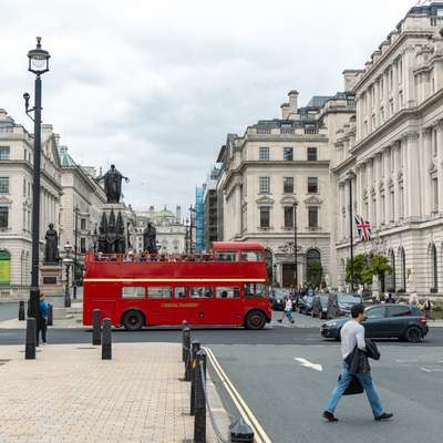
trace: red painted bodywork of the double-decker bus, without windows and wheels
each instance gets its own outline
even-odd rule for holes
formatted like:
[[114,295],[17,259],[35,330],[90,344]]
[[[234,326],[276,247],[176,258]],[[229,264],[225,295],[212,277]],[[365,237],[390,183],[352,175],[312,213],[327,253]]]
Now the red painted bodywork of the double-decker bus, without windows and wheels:
[[[220,244],[220,243],[218,243]],[[264,253],[259,244],[245,248],[247,243],[229,241],[226,249]],[[219,246],[219,245],[217,245]],[[215,248],[216,249],[216,245]],[[92,311],[101,310],[101,318],[110,318],[121,326],[124,312],[143,312],[147,326],[178,326],[183,320],[199,326],[243,326],[250,310],[261,310],[270,321],[271,309],[267,297],[244,297],[244,285],[267,285],[265,261],[101,261],[94,254],[85,260],[83,289],[83,324],[92,324]],[[115,256],[114,256],[115,257]],[[206,258],[207,259],[207,258]],[[185,287],[186,297],[123,298],[123,287]],[[190,298],[190,287],[213,288],[212,298]],[[215,288],[236,287],[238,298],[216,298]]]

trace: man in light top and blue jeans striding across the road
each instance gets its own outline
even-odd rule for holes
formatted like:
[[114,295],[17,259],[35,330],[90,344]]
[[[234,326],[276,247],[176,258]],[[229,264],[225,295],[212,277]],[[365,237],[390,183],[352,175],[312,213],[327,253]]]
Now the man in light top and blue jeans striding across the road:
[[[365,351],[365,339],[364,339],[364,328],[361,322],[365,319],[363,305],[354,305],[351,308],[352,320],[349,320],[341,328],[341,354],[343,358],[343,368],[341,371],[341,378],[337,382],[337,387],[333,390],[326,410],[323,412],[323,419],[328,422],[337,422],[338,419],[333,415],[336,412],[337,404],[347,390],[352,377],[357,377],[360,384],[363,387],[369,403],[371,404],[372,413],[375,421],[389,420],[393,416],[392,413],[384,412],[379,394],[377,393],[375,385],[372,381],[371,371],[369,369],[369,363],[367,364],[367,370],[351,374],[349,372],[349,364],[347,358],[352,354],[356,348],[360,351]],[[349,359],[348,359],[349,360]]]

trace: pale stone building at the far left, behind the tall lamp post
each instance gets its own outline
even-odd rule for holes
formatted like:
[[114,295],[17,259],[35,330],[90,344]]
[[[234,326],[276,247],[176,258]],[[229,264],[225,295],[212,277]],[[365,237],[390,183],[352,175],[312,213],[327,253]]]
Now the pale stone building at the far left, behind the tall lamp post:
[[[29,296],[31,284],[31,217],[33,137],[0,110],[0,298]],[[58,137],[42,125],[40,256],[50,223],[60,227],[62,194]]]

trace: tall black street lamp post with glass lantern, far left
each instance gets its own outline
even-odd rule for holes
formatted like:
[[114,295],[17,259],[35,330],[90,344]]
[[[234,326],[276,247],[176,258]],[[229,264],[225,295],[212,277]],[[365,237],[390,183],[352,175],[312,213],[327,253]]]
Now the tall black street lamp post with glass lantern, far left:
[[[24,106],[28,116],[34,122],[34,171],[32,187],[32,268],[31,268],[31,291],[30,291],[30,317],[39,320],[39,249],[40,249],[40,161],[41,161],[41,79],[40,75],[49,71],[48,51],[41,48],[41,38],[37,38],[37,48],[28,52],[28,71],[35,74],[34,106],[29,107],[30,95],[23,94]],[[33,112],[33,117],[30,115]]]

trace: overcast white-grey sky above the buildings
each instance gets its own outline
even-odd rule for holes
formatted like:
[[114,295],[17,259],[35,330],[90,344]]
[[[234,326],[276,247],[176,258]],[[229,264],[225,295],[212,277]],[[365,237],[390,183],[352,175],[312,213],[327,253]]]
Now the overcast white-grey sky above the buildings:
[[126,203],[187,208],[227,133],[342,90],[416,0],[1,0],[0,107],[32,131],[27,51],[42,35],[43,122]]

